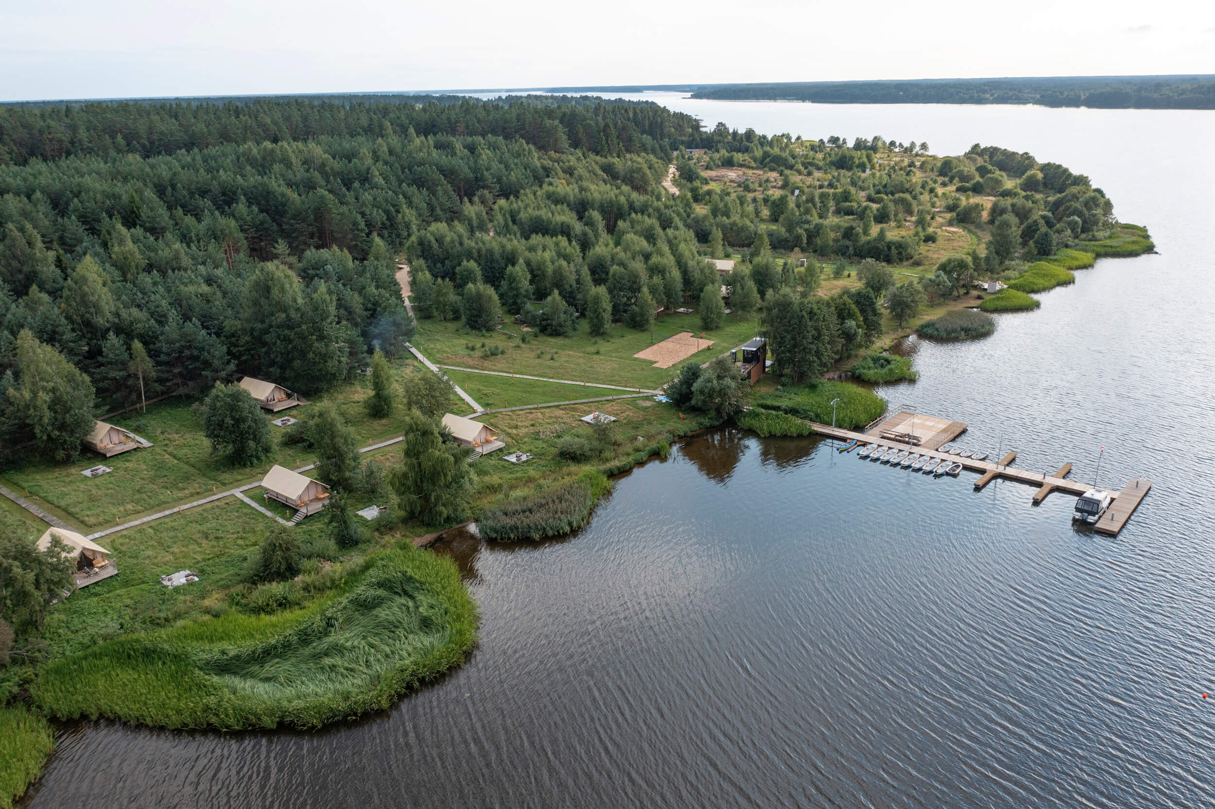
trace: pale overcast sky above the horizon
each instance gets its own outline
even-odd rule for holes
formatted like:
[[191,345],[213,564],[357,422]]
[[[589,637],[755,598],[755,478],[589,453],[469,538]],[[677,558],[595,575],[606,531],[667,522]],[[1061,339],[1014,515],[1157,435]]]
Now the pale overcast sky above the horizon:
[[0,0],[0,100],[1215,73],[1215,4]]

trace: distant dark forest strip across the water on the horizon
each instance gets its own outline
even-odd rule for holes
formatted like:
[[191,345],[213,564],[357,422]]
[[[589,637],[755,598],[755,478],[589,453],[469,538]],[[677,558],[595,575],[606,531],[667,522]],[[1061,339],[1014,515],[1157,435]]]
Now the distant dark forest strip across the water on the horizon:
[[1215,109],[1215,75],[806,81],[700,87],[694,98],[829,104],[1040,104],[1097,109]]

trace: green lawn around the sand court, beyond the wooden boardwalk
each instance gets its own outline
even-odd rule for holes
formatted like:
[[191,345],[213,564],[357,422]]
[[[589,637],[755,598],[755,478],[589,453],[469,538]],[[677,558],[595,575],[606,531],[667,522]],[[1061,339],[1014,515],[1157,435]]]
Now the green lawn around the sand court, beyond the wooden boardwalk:
[[[755,336],[756,327],[755,317],[735,319],[734,316],[727,316],[722,328],[705,335],[706,339],[714,341],[713,345],[684,362],[708,362]],[[510,323],[504,328],[520,334],[518,324]],[[661,341],[679,332],[691,332],[699,336],[700,317],[695,313],[665,316],[654,324],[654,341]],[[485,352],[481,349],[482,343]],[[414,340],[418,350],[435,364],[654,389],[666,383],[673,372],[669,368],[655,368],[652,362],[633,357],[650,344],[649,332],[614,326],[606,336],[593,338],[582,326],[573,335],[564,338],[529,332],[527,344],[522,345],[518,339],[501,332],[474,334],[459,321],[445,323],[437,319],[419,321]],[[468,349],[468,345],[475,347]],[[505,352],[487,356],[488,349],[495,345]]]

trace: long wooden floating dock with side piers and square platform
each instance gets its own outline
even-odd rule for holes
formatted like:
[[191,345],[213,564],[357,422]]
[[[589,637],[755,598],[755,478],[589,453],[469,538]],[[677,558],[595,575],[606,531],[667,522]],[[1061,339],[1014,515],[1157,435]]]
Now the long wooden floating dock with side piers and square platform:
[[810,422],[809,424],[815,432],[832,439],[859,441],[861,443],[881,443],[887,447],[905,447],[911,452],[925,454],[929,458],[945,458],[950,463],[959,463],[962,465],[962,469],[979,473],[981,477],[974,483],[974,491],[982,490],[996,477],[1036,486],[1038,491],[1033,497],[1035,505],[1040,504],[1046,499],[1047,494],[1055,491],[1075,494],[1076,497],[1092,490],[1106,492],[1113,498],[1113,503],[1094,526],[1094,530],[1109,536],[1118,536],[1118,532],[1123,530],[1130,520],[1131,514],[1138,508],[1140,502],[1152,488],[1152,481],[1146,477],[1132,477],[1121,491],[1067,480],[1067,475],[1072,473],[1072,464],[1063,464],[1055,474],[1018,469],[1010,465],[1017,458],[1016,452],[1007,453],[999,462],[959,458],[948,452],[940,452],[940,447],[965,432],[967,425],[961,422],[950,422],[949,419],[923,415],[921,413],[900,411],[876,425],[870,425],[866,432],[844,430],[815,422]]

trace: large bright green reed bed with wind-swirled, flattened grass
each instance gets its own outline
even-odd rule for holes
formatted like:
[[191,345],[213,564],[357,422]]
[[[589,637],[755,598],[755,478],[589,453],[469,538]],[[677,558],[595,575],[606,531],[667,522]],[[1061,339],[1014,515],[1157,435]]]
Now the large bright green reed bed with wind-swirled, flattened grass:
[[316,728],[386,708],[457,664],[476,622],[454,562],[402,543],[307,607],[98,644],[44,667],[32,695],[61,719]]

